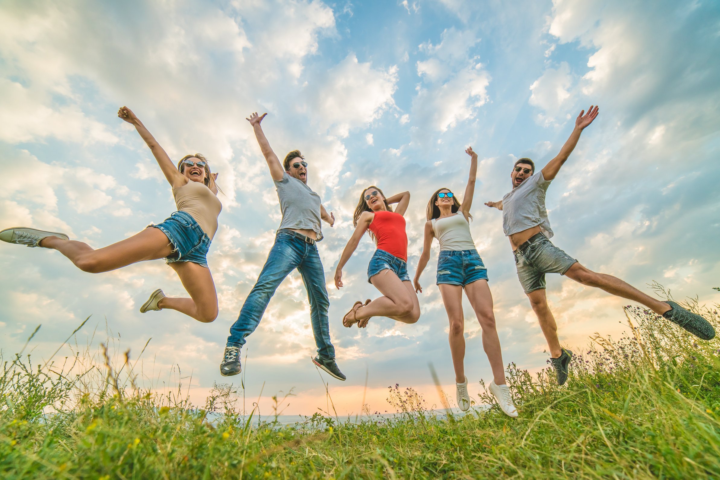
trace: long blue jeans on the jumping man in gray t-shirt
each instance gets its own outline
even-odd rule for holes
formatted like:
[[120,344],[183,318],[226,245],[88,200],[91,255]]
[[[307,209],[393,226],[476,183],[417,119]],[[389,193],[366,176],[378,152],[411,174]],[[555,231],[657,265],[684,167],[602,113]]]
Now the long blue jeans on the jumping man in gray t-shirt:
[[245,338],[258,327],[275,290],[295,268],[300,271],[310,301],[310,322],[315,345],[318,345],[318,355],[335,358],[328,325],[330,299],[325,289],[325,271],[318,247],[284,232],[276,235],[263,271],[245,299],[238,320],[230,327],[229,347],[245,345]]

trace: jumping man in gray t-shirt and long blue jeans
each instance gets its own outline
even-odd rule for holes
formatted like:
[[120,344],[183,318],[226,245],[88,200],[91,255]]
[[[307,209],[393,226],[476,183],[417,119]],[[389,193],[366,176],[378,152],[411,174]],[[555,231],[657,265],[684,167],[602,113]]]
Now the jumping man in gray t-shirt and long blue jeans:
[[266,114],[253,113],[248,122],[253,126],[255,137],[270,168],[270,175],[277,189],[282,211],[282,222],[270,249],[268,259],[253,289],[240,309],[238,320],[230,327],[225,355],[220,363],[223,376],[240,373],[240,348],[245,338],[257,328],[270,299],[281,282],[295,268],[300,271],[302,283],[310,301],[310,321],[318,356],[312,359],[318,367],[338,380],[345,376],[335,363],[335,348],[330,343],[328,325],[328,290],[325,288],[325,271],[320,262],[318,247],[323,239],[320,219],[335,223],[333,214],[328,214],[320,203],[320,195],[307,186],[307,163],[300,150],[292,150],[285,157],[283,165],[270,148],[260,122]]

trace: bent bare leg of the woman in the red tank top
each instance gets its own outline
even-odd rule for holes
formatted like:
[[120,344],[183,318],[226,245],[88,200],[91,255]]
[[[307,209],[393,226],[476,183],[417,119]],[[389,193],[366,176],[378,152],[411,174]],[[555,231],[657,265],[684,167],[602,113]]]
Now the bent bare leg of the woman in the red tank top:
[[356,311],[358,326],[367,325],[370,317],[390,317],[403,323],[415,323],[420,318],[420,302],[410,281],[401,281],[395,272],[383,270],[370,279],[381,296]]

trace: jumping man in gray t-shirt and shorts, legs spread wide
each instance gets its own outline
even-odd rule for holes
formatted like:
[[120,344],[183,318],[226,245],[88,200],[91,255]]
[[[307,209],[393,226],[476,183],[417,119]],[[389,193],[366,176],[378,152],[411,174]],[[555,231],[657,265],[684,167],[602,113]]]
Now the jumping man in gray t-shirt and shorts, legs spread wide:
[[539,173],[535,173],[535,165],[529,158],[516,161],[513,171],[510,172],[513,190],[501,201],[486,203],[488,207],[503,211],[503,230],[510,238],[510,245],[515,253],[518,278],[549,345],[550,360],[559,385],[567,380],[567,367],[572,352],[560,347],[557,325],[545,296],[545,273],[560,273],[583,285],[595,286],[609,294],[634,300],[703,340],[710,340],[715,336],[712,325],[700,315],[688,312],[675,302],[653,299],[614,276],[590,271],[550,242],[553,234],[547,219],[545,192],[575,149],[582,130],[597,116],[598,107],[590,106],[587,114],[584,110],[580,112],[575,119],[575,130],[560,153]]

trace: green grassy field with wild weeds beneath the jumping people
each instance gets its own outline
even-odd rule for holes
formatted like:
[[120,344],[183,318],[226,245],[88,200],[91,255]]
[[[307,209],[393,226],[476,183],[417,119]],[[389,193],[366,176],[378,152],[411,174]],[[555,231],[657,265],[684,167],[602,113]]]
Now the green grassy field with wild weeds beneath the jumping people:
[[[717,305],[689,306],[720,329]],[[80,356],[35,367],[14,356],[0,376],[0,477],[720,477],[720,340],[696,341],[639,307],[625,314],[627,336],[595,335],[573,349],[565,386],[549,369],[531,376],[508,366],[516,420],[497,406],[441,418],[413,389],[395,386],[390,419],[366,412],[356,423],[315,415],[292,427],[258,425],[227,387],[193,407],[181,394],[136,387],[131,363],[119,373],[109,360],[82,371]],[[217,411],[225,415],[209,422]]]

